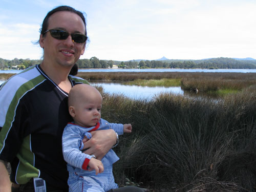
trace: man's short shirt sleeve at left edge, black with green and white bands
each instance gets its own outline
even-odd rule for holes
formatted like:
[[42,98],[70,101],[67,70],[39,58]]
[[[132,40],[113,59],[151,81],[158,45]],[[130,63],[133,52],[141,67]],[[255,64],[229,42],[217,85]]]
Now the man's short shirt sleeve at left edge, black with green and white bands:
[[[14,89],[14,88],[13,88]],[[0,90],[0,159],[11,162],[19,152],[24,137],[29,135],[28,110],[18,92],[9,84]]]

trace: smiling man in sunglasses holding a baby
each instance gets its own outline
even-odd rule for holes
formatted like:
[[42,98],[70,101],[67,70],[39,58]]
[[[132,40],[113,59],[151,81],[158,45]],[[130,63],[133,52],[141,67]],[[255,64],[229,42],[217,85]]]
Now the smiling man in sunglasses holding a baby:
[[[0,88],[1,192],[11,191],[5,162],[11,163],[13,191],[33,188],[34,177],[46,181],[47,191],[68,191],[61,136],[71,121],[69,91],[77,83],[88,83],[69,75],[84,53],[86,40],[86,22],[81,12],[68,6],[53,9],[42,23],[42,63],[13,76]],[[84,148],[89,148],[85,153],[101,160],[116,143],[116,133],[102,130],[92,135],[84,143]]]

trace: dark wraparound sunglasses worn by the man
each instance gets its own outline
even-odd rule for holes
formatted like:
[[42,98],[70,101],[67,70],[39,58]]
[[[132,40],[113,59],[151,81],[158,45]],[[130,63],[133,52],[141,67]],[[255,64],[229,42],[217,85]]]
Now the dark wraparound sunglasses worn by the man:
[[86,35],[80,34],[80,33],[68,33],[67,31],[61,30],[61,29],[49,29],[44,32],[50,32],[51,36],[55,39],[64,40],[71,35],[73,42],[77,42],[78,44],[81,44],[83,42],[86,42],[88,37]]

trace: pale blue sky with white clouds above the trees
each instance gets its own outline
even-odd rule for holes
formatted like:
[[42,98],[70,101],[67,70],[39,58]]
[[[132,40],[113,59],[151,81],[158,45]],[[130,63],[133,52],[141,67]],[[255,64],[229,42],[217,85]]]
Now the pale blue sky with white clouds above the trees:
[[60,5],[86,15],[81,59],[256,59],[255,0],[0,0],[0,58],[41,59],[46,14]]

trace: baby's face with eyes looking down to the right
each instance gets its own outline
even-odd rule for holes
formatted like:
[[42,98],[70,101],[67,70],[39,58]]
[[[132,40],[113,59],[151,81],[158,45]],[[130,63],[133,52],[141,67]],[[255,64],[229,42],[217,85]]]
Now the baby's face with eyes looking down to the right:
[[77,102],[75,106],[75,117],[73,117],[73,119],[75,123],[80,126],[95,126],[101,118],[101,108],[101,96],[95,95],[92,98],[83,99],[83,101]]

